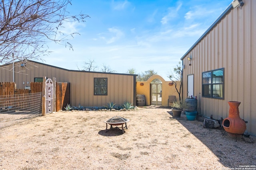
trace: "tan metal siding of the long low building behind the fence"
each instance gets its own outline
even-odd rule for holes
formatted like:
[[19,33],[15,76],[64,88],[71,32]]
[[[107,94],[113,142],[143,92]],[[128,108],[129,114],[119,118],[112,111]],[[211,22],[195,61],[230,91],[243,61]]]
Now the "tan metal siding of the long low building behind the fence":
[[[0,68],[0,82],[12,82],[12,64]],[[30,86],[35,77],[56,78],[57,82],[70,82],[71,106],[106,106],[108,102],[122,105],[134,103],[134,75],[109,74],[100,72],[81,72],[65,70],[46,64],[28,61],[26,67],[15,63],[15,82],[17,88]],[[94,95],[94,78],[108,78],[108,95]],[[25,82],[23,85],[22,82]]]

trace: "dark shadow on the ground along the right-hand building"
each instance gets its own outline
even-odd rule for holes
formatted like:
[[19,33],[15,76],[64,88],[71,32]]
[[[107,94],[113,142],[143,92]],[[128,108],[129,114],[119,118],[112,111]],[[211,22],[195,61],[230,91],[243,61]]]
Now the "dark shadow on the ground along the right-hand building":
[[[170,119],[176,119],[190,133],[206,145],[218,158],[219,162],[228,168],[241,168],[241,166],[255,166],[256,137],[238,137],[225,133],[223,127],[206,129],[203,121],[189,121],[184,113],[181,117],[174,118],[172,111],[168,111]],[[233,155],[235,160],[230,158]],[[255,168],[255,167],[254,167]]]

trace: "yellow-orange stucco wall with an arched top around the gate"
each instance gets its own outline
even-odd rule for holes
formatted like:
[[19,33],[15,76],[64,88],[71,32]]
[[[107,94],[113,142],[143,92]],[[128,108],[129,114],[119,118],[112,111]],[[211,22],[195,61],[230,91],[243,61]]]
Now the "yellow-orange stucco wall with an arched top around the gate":
[[136,82],[136,95],[145,95],[146,106],[150,105],[150,83],[156,78],[162,81],[162,106],[168,106],[169,96],[176,96],[176,99],[179,100],[174,84],[171,85],[172,81],[165,81],[164,78],[159,75],[152,75],[145,82]]

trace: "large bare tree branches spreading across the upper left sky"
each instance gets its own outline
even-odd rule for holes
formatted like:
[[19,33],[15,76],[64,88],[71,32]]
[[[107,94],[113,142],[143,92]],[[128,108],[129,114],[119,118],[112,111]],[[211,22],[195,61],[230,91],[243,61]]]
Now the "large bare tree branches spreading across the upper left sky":
[[48,55],[49,41],[72,49],[68,40],[74,34],[60,31],[64,22],[84,22],[85,14],[70,15],[66,8],[71,0],[1,0],[0,63],[38,59]]

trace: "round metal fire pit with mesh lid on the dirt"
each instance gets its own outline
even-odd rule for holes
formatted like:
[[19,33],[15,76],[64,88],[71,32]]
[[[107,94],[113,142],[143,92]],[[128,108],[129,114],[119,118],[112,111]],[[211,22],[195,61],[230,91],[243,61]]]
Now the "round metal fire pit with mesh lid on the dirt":
[[[110,119],[108,119],[107,121],[104,121],[106,123],[106,132],[108,132],[109,130],[113,129],[113,126],[118,126],[118,125],[122,125],[122,133],[124,133],[124,124],[125,124],[125,128],[127,128],[126,123],[130,121],[129,119],[125,119],[123,117],[120,116],[114,116]],[[108,129],[108,124],[110,125],[110,129]],[[118,128],[118,127],[116,127]]]

